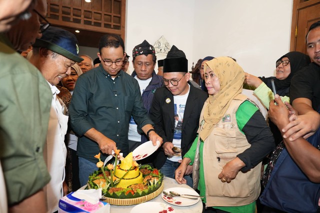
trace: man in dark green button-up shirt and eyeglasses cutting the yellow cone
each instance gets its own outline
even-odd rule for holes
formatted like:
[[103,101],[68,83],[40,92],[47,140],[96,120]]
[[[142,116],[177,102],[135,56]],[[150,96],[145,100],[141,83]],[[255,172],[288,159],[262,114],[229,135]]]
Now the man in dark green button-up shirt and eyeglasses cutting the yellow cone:
[[69,105],[71,127],[79,136],[77,155],[81,185],[85,185],[89,175],[97,169],[94,155],[101,153],[101,161],[104,161],[116,148],[123,156],[128,154],[131,116],[153,145],[156,141],[162,143],[143,107],[138,82],[121,70],[125,56],[122,38],[103,35],[98,49],[100,65],[79,76]]

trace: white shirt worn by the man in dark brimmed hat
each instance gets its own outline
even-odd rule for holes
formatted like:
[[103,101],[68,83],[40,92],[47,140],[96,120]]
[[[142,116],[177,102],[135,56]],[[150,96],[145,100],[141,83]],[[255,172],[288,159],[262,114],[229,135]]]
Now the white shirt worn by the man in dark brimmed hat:
[[66,107],[56,96],[60,91],[49,82],[48,84],[52,91],[52,101],[43,157],[51,180],[44,187],[44,193],[47,203],[47,212],[53,213],[58,210],[59,199],[63,197],[62,183],[65,176],[64,166],[66,159],[64,135],[67,130],[68,116],[62,113],[63,111],[66,111]]

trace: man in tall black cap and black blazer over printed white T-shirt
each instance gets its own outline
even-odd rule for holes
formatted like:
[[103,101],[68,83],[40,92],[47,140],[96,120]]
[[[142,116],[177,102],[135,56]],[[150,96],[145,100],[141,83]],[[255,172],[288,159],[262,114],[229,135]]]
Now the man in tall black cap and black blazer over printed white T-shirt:
[[[190,73],[187,70],[184,52],[173,45],[163,64],[162,83],[165,87],[156,90],[150,110],[154,128],[163,139],[153,164],[164,176],[173,179],[181,157],[196,138],[200,112],[207,98],[205,92],[189,83]],[[172,147],[181,148],[182,153],[175,154]],[[191,168],[189,166],[186,174],[192,172]],[[192,187],[191,177],[184,178]]]

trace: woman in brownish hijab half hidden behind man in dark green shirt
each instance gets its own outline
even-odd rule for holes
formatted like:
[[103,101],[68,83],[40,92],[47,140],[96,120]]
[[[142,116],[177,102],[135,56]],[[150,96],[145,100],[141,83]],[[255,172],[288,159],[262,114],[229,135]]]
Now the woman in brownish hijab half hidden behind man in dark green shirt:
[[[78,79],[79,75],[81,74],[82,74],[81,68],[77,64],[73,64],[71,66],[70,75],[61,79],[61,83],[63,87],[59,89],[60,93],[62,91],[62,88],[64,90],[67,90],[67,93],[68,93],[68,95],[62,95],[62,98],[60,97],[62,100],[66,101],[67,103],[70,103],[71,96],[69,95],[72,95],[75,82]],[[66,92],[63,94],[66,94]],[[67,147],[67,156],[66,156],[66,163],[65,163],[65,182],[68,187],[68,193],[70,193],[70,192],[75,192],[81,187],[79,182],[79,176],[78,176],[79,174],[78,158],[76,156],[77,137],[74,135],[74,132],[70,129],[67,130],[67,134],[65,135],[65,145]]]

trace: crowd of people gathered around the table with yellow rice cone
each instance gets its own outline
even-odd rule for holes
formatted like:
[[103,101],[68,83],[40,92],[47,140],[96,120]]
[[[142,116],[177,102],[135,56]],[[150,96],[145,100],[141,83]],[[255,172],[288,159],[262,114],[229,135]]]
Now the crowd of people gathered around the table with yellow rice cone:
[[94,155],[126,156],[149,140],[161,145],[142,163],[197,190],[204,212],[319,211],[320,21],[307,55],[284,54],[274,77],[206,56],[198,85],[175,45],[157,61],[148,41],[137,44],[131,75],[119,35],[103,35],[94,60],[78,55],[46,7],[0,1],[1,213],[56,213],[97,169]]

